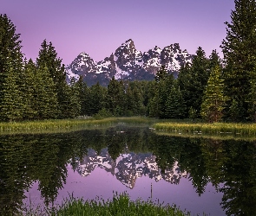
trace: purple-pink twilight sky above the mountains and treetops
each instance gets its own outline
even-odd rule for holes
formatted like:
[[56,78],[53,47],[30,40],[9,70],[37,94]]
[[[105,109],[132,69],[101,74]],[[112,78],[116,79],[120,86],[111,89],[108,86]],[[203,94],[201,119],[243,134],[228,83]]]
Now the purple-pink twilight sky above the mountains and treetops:
[[46,39],[64,64],[81,52],[103,60],[130,38],[141,52],[178,42],[189,54],[202,47],[222,57],[231,10],[232,0],[0,0],[26,57],[35,60]]

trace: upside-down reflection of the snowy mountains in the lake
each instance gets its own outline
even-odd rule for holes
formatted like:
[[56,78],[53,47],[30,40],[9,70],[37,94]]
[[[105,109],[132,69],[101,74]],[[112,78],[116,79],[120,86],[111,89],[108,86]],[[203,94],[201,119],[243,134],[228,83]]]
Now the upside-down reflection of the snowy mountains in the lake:
[[187,172],[181,172],[178,162],[174,163],[173,168],[168,168],[164,173],[161,173],[155,158],[150,153],[135,154],[130,152],[121,154],[114,161],[109,156],[108,149],[102,149],[99,155],[96,154],[95,150],[89,149],[87,156],[83,158],[82,162],[76,162],[75,169],[80,175],[85,177],[90,175],[97,167],[104,168],[129,188],[135,187],[136,179],[142,175],[148,176],[154,179],[154,181],[163,179],[172,184],[178,184],[181,177],[187,177]]

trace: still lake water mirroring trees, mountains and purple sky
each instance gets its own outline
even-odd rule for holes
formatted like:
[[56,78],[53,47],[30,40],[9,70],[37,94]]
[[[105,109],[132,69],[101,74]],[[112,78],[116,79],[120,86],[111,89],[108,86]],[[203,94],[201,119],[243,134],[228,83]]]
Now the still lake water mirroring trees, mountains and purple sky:
[[[255,143],[118,126],[0,137],[0,213],[74,197],[173,203],[192,215],[256,215]],[[2,215],[2,214],[1,214]]]

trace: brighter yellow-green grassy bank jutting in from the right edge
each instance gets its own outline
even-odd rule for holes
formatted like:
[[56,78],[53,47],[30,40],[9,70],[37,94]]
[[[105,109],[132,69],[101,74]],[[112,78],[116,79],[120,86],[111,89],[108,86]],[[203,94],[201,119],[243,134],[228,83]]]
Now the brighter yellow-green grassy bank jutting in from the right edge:
[[189,122],[165,122],[153,125],[155,130],[177,132],[178,134],[213,134],[213,135],[236,135],[255,136],[256,124],[234,124],[234,123],[189,123]]

